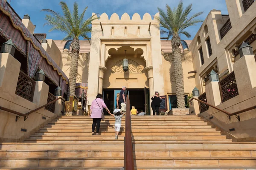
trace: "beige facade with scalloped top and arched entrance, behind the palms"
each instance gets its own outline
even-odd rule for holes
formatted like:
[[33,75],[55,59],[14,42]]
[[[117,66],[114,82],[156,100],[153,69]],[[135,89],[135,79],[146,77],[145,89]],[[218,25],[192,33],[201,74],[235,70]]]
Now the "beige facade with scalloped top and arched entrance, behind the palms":
[[[158,13],[155,15],[159,15]],[[87,101],[90,105],[98,93],[108,94],[111,108],[115,108],[116,93],[126,86],[129,90],[131,105],[138,109],[150,110],[150,98],[158,91],[166,96],[166,107],[169,111],[175,105],[169,103],[169,96],[175,96],[175,78],[172,64],[171,41],[160,40],[159,23],[146,13],[143,16],[127,13],[119,17],[102,14],[99,20],[92,23],[90,44],[81,40],[80,61],[77,82],[88,83]],[[67,42],[54,40],[62,52],[63,71],[69,75],[69,49]],[[185,93],[188,95],[195,87],[190,40],[183,41],[180,48],[183,52],[183,74]],[[68,47],[69,48],[69,47]],[[90,50],[89,50],[90,48]],[[84,57],[84,56],[87,56]],[[129,70],[122,70],[122,61],[128,59]],[[172,99],[175,103],[175,99]],[[133,102],[132,102],[133,101]],[[177,106],[176,106],[177,107]]]

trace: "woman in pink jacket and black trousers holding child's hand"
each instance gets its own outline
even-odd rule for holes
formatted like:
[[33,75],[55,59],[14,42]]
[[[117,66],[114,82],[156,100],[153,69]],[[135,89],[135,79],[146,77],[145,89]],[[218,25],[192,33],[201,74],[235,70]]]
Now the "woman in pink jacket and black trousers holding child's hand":
[[105,108],[108,113],[110,113],[109,109],[107,108],[106,104],[103,101],[102,94],[97,94],[96,99],[92,101],[92,105],[90,107],[90,118],[93,119],[93,132],[92,135],[94,135],[94,130],[96,127],[96,135],[99,135],[99,127],[100,127],[100,121],[102,119],[102,112],[103,108]]

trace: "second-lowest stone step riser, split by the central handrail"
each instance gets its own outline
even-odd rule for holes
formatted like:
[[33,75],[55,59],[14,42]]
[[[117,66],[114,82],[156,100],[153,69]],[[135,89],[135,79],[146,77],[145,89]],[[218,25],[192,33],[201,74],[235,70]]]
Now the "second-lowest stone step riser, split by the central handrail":
[[[136,158],[224,158],[253,157],[256,150],[136,150]],[[102,158],[124,157],[123,150],[0,150],[0,158]]]

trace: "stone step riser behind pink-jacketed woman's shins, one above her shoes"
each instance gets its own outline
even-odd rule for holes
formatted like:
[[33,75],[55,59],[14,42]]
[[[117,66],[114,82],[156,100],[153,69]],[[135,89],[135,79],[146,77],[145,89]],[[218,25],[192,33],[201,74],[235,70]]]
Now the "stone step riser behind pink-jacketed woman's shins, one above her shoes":
[[[125,128],[124,125],[122,125],[123,128]],[[92,128],[92,124],[90,125],[70,125],[70,126],[64,126],[64,125],[46,125],[44,126],[44,128],[51,128],[51,129],[91,129]],[[100,125],[100,129],[108,129],[108,128],[112,128],[114,129],[113,125]],[[211,125],[183,125],[183,126],[177,126],[177,125],[173,125],[173,126],[132,126],[132,129],[212,129]],[[122,129],[122,127],[121,127]]]

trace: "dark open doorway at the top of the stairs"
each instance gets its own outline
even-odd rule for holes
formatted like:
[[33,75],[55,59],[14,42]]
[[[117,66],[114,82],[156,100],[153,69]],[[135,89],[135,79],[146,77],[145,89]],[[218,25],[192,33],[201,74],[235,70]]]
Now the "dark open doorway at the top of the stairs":
[[[111,113],[113,113],[114,109],[116,109],[116,94],[120,91],[121,89],[103,89],[103,99],[107,107],[110,109]],[[143,112],[145,112],[147,115],[150,115],[150,100],[149,91],[147,88],[128,89],[128,95],[131,107],[135,106],[138,113],[143,110]],[[108,115],[106,111],[105,115]]]

